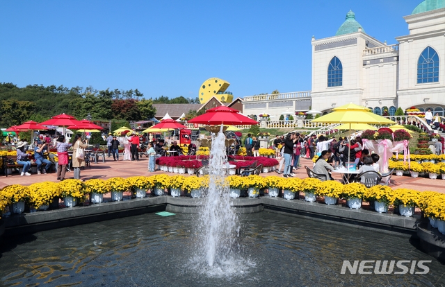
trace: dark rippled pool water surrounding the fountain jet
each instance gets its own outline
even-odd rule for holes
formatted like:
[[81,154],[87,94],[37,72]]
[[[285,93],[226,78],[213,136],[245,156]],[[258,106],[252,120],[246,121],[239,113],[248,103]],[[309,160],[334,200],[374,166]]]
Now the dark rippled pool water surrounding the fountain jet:
[[[145,214],[8,239],[0,286],[445,286],[445,266],[409,236],[268,212],[240,216],[241,260],[206,268],[193,259],[193,218]],[[426,275],[341,275],[343,260],[432,262]]]

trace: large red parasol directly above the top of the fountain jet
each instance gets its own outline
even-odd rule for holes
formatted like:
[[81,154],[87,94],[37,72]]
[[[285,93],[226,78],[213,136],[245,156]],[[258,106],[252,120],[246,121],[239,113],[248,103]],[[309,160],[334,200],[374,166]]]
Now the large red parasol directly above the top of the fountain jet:
[[188,121],[188,123],[202,123],[204,125],[257,125],[254,121],[243,114],[239,114],[238,110],[231,107],[213,107],[205,114],[195,117]]

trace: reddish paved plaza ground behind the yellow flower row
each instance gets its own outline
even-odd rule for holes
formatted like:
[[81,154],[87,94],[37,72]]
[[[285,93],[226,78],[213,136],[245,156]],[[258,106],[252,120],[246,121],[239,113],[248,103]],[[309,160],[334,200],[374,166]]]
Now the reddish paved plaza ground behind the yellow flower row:
[[[312,167],[313,163],[309,159],[300,159],[300,164],[302,168],[299,168],[296,172],[296,177],[306,178],[307,173],[305,171],[304,166]],[[106,180],[110,177],[131,177],[136,175],[158,175],[163,174],[163,171],[156,171],[154,173],[148,172],[148,158],[142,157],[139,161],[122,161],[119,162],[113,161],[113,157],[106,157],[106,162],[99,161],[97,164],[94,162],[91,163],[91,167],[86,167],[81,171],[81,179],[82,180],[90,180],[92,178],[100,178]],[[168,175],[176,175],[174,173],[165,173]],[[272,173],[261,173],[261,176],[270,176],[270,175],[278,175],[275,172]],[[184,176],[190,176],[185,174]],[[334,174],[333,177],[336,180],[341,179],[341,175]],[[66,179],[73,178],[72,172],[67,172]],[[405,189],[415,189],[417,191],[438,191],[441,193],[445,193],[445,180],[440,179],[438,177],[437,180],[430,180],[425,177],[417,177],[413,178],[410,176],[398,177],[393,175],[391,177],[391,188],[405,188]],[[10,184],[23,184],[29,185],[35,182],[58,182],[56,180],[56,173],[49,173],[46,175],[37,175],[33,173],[31,176],[20,176],[18,173],[14,173],[13,175],[1,176],[0,177],[0,188]]]

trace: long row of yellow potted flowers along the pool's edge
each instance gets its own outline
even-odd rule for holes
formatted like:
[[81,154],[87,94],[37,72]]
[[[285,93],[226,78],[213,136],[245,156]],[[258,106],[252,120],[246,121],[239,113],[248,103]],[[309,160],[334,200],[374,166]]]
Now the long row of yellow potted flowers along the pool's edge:
[[[218,186],[227,186],[227,188],[251,189],[253,195],[257,196],[263,189],[274,188],[293,193],[301,191],[345,200],[357,198],[370,202],[382,202],[387,206],[394,205],[394,207],[398,207],[398,205],[417,206],[426,216],[445,220],[445,194],[434,191],[419,192],[412,189],[391,189],[388,186],[373,186],[367,189],[363,184],[357,182],[343,185],[331,181],[321,182],[313,178],[301,180],[299,178],[261,177],[258,175],[250,175],[249,177],[233,175],[227,177],[225,182],[218,182],[217,184]],[[209,187],[209,177],[153,175],[150,177],[129,177],[127,179],[113,177],[99,182],[93,179],[84,183],[80,180],[65,180],[58,183],[43,182],[29,187],[13,184],[0,191],[0,211],[5,211],[8,205],[19,201],[26,201],[30,206],[40,207],[49,204],[57,196],[71,196],[82,201],[91,192],[105,193],[108,189],[131,191],[133,188],[152,191],[156,186],[161,186],[163,189],[181,189],[182,191],[205,190]],[[1,214],[3,212],[0,212],[0,216]]]

